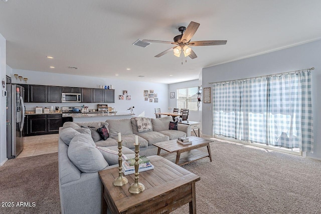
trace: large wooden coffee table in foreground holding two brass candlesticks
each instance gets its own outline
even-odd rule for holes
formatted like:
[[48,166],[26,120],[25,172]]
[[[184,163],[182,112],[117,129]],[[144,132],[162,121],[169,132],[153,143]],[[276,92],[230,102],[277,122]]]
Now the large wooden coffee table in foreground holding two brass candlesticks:
[[128,191],[134,174],[125,175],[128,183],[114,186],[118,167],[99,171],[102,181],[102,213],[169,213],[189,203],[190,213],[196,213],[195,182],[200,176],[161,156],[149,156],[154,169],[139,172],[139,182],[145,190],[139,194]]

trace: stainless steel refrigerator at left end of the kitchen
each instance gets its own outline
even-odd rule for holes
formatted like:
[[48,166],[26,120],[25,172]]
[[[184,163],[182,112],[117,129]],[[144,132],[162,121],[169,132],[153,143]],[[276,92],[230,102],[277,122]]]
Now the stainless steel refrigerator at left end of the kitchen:
[[7,157],[15,158],[24,149],[25,89],[7,85]]

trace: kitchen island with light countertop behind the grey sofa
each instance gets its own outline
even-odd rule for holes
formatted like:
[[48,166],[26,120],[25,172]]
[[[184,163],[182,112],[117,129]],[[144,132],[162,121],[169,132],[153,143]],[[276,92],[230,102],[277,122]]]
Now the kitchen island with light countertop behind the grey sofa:
[[126,112],[117,113],[73,113],[70,114],[73,122],[94,122],[94,121],[106,121],[107,119],[130,119],[134,114]]

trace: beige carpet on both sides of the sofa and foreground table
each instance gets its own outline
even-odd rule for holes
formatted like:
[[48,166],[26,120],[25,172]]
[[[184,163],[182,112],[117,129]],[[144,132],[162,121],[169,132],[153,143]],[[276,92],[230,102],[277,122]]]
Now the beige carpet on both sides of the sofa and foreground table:
[[[197,213],[320,213],[321,161],[243,144],[211,143],[213,162],[184,167],[201,176]],[[0,213],[59,213],[57,153],[8,160],[0,167]],[[172,213],[189,213],[188,204]]]

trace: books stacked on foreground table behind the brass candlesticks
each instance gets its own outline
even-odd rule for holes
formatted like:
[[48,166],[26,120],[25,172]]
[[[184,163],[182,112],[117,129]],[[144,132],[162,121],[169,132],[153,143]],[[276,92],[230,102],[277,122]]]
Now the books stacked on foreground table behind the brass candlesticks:
[[[150,163],[149,159],[145,156],[140,156],[138,159],[138,163],[139,163],[138,172],[142,172],[142,171],[146,171],[154,168],[154,166]],[[124,173],[124,175],[135,173],[134,165],[135,165],[134,158],[123,161],[122,172]]]

